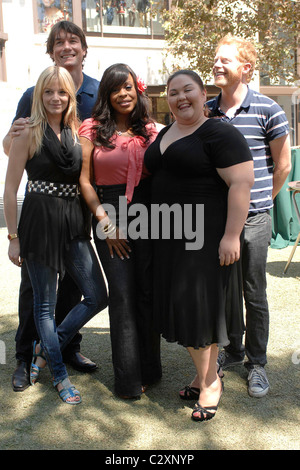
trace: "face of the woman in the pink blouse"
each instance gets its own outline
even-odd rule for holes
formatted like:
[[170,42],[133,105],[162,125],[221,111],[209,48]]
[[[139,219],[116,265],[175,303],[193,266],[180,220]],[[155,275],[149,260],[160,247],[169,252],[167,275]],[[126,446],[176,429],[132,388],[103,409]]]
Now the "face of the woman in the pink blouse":
[[111,92],[110,103],[116,116],[132,113],[137,104],[137,92],[130,73],[128,74],[127,80],[120,85],[120,87],[117,87]]

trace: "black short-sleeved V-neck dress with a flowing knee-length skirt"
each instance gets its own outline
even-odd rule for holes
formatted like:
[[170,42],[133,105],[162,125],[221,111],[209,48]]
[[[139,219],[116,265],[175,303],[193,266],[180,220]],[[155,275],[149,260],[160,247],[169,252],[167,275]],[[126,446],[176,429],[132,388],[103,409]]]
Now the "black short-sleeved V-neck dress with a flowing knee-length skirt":
[[[164,233],[161,230],[153,240],[155,323],[164,338],[186,347],[225,346],[228,328],[234,334],[244,332],[243,302],[240,263],[219,264],[228,187],[216,168],[249,161],[252,156],[240,132],[219,120],[205,121],[161,154],[160,142],[167,130],[159,133],[145,154],[145,165],[153,175],[152,205],[175,204],[181,209],[181,214],[177,211],[170,217],[176,230],[171,223],[170,236],[165,236],[164,215],[160,221]],[[197,205],[203,205],[203,217]],[[192,213],[187,211],[191,208]],[[151,223],[157,225],[157,220],[152,217]],[[187,249],[191,230],[197,231],[198,239],[200,232],[204,235],[201,248]]]

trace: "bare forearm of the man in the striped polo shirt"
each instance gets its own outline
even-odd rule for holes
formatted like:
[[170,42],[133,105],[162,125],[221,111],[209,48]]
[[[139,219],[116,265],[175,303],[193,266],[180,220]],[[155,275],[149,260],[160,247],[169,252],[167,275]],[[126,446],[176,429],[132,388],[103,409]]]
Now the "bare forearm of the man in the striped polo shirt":
[[273,199],[281,190],[291,171],[291,147],[290,137],[285,135],[270,142],[271,155],[274,162],[273,172]]

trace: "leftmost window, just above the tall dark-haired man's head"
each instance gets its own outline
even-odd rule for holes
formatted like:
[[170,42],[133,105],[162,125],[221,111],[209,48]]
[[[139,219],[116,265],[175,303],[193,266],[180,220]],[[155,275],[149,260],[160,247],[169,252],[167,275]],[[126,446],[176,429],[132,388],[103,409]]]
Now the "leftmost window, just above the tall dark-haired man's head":
[[73,20],[72,0],[35,0],[36,32],[49,33],[58,21]]

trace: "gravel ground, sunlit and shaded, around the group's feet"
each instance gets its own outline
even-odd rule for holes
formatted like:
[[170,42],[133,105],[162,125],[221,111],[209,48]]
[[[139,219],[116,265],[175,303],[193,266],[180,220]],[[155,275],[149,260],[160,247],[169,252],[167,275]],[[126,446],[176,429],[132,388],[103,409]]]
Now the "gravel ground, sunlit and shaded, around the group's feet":
[[177,344],[162,340],[162,380],[141,400],[114,395],[107,312],[81,331],[81,350],[96,361],[98,370],[82,374],[68,369],[82,394],[80,405],[72,407],[59,399],[48,369],[34,387],[13,392],[20,271],[8,261],[6,235],[6,229],[0,229],[0,345],[5,356],[1,360],[0,355],[0,450],[299,450],[299,248],[286,275],[282,273],[291,247],[269,250],[269,394],[250,398],[247,371],[236,367],[225,372],[216,417],[196,423],[191,420],[194,403],[178,397],[178,390],[192,380],[194,368],[187,351]]

